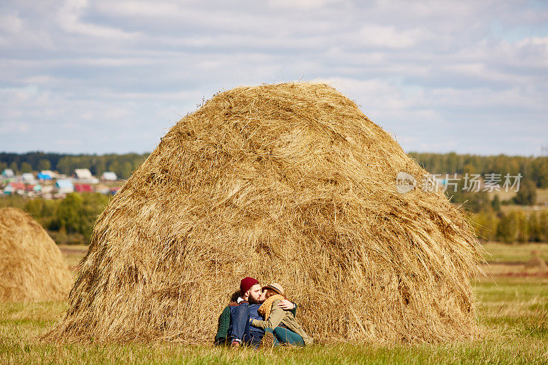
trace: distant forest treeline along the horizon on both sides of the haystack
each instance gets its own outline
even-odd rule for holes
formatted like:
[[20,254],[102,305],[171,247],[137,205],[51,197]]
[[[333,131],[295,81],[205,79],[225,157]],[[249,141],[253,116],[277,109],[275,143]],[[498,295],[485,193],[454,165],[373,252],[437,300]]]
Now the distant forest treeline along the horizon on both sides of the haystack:
[[[522,181],[533,181],[537,187],[548,187],[548,157],[510,155],[469,155],[458,153],[410,152],[412,158],[429,173],[434,174],[480,174],[521,173]],[[125,153],[107,155],[70,155],[65,153],[0,153],[0,171],[12,168],[19,173],[40,170],[56,170],[70,174],[75,168],[89,168],[93,175],[114,171],[127,179],[148,157],[148,153]]]

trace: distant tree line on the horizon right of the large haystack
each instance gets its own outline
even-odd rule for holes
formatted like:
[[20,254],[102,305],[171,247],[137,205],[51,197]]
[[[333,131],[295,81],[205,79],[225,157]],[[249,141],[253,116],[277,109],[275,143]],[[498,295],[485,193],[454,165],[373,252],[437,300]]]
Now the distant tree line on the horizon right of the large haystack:
[[409,153],[429,173],[480,174],[521,173],[522,181],[530,180],[538,187],[548,187],[548,157],[508,155],[468,155],[458,153]]

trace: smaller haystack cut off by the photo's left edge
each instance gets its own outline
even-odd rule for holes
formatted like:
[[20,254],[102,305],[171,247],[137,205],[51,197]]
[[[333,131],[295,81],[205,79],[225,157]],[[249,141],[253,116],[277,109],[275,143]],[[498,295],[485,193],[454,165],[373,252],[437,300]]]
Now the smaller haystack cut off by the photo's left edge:
[[0,301],[66,299],[71,274],[57,245],[34,219],[0,209]]

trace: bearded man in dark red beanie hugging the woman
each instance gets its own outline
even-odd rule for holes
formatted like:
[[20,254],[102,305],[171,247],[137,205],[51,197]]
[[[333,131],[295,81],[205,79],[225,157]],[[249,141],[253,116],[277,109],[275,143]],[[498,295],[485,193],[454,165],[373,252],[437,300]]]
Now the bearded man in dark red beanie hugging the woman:
[[[257,345],[264,336],[264,329],[254,327],[249,323],[251,319],[262,320],[258,314],[261,305],[259,297],[262,292],[257,279],[245,277],[240,281],[240,297],[225,307],[219,317],[219,329],[215,336],[216,344],[231,344],[239,347],[240,344]],[[284,300],[279,306],[284,310],[295,310],[295,303]]]

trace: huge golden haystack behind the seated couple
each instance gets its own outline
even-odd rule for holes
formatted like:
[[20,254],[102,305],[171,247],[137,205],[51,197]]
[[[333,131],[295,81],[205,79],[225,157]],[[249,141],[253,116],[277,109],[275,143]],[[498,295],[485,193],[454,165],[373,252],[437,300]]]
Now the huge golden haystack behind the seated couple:
[[64,340],[212,341],[251,275],[319,340],[475,331],[477,240],[425,170],[324,84],[240,87],[175,125],[95,224]]

